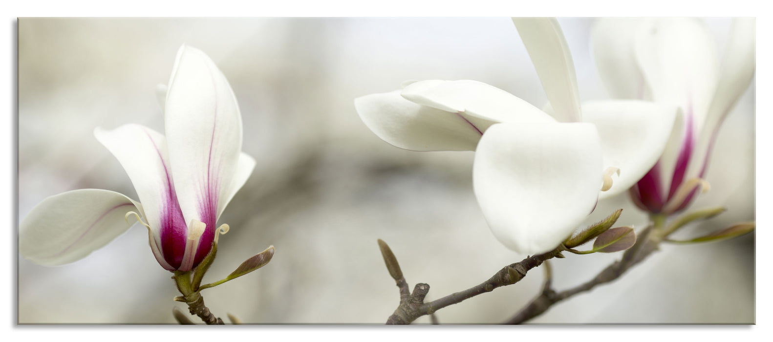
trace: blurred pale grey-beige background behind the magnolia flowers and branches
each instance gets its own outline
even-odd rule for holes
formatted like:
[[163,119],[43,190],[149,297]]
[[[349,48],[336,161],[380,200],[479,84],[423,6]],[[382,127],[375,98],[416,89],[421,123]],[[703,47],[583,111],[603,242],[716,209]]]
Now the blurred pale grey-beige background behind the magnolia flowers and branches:
[[[729,19],[709,19],[724,53]],[[592,19],[560,19],[582,100],[608,98],[589,50]],[[472,193],[472,152],[411,152],[359,120],[355,97],[404,80],[480,80],[542,107],[536,72],[509,18],[19,19],[19,220],[46,197],[99,188],[137,198],[128,176],[92,134],[139,123],[163,132],[155,85],[182,43],[207,53],[237,95],[250,180],[220,218],[206,281],[274,245],[257,272],[203,292],[218,316],[246,323],[383,323],[397,287],[376,239],[397,255],[427,299],[475,286],[521,260],[495,240]],[[721,55],[720,55],[721,56]],[[721,130],[693,208],[728,208],[683,234],[754,220],[754,85]],[[626,195],[619,224],[643,227]],[[619,258],[553,261],[567,289]],[[19,256],[19,323],[175,323],[186,311],[171,273],[135,225],[105,248],[48,268]],[[441,323],[499,323],[540,287],[522,282],[438,311]],[[428,323],[427,317],[417,323]],[[560,303],[534,323],[754,323],[754,236],[664,245],[617,282]]]

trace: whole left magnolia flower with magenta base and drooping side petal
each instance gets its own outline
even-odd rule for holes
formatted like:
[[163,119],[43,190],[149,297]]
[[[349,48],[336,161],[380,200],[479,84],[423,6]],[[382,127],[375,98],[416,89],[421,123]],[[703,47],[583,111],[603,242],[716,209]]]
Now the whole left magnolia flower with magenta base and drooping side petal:
[[163,268],[199,265],[216,240],[218,217],[255,160],[240,152],[241,115],[226,77],[189,46],[180,47],[169,78],[165,132],[134,124],[96,128],[94,135],[124,166],[141,204],[98,189],[48,197],[22,221],[22,256],[41,265],[75,262],[126,231],[126,219],[138,212]]

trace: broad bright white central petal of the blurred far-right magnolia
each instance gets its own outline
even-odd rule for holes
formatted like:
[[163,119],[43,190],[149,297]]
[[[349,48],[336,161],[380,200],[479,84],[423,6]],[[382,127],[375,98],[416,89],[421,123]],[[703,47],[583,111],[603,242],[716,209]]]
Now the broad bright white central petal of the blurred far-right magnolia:
[[652,100],[683,109],[700,132],[717,87],[717,51],[698,19],[647,20],[638,29],[635,54]]

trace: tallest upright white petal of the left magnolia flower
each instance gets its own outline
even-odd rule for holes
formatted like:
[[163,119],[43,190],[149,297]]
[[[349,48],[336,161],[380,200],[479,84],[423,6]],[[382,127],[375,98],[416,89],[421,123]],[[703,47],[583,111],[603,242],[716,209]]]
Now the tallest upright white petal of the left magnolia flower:
[[242,123],[228,80],[206,54],[182,46],[165,104],[165,130],[177,198],[186,222],[213,234],[219,198],[228,193],[242,144]]

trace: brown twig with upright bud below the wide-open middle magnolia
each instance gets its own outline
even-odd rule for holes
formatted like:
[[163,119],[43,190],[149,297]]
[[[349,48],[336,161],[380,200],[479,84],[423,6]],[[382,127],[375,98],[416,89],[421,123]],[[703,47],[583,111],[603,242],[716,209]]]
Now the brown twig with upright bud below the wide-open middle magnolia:
[[443,298],[434,300],[430,303],[424,303],[424,297],[427,296],[430,286],[419,283],[414,287],[413,292],[407,292],[408,284],[403,277],[403,273],[400,271],[400,265],[397,264],[397,258],[394,257],[392,251],[385,242],[379,240],[379,247],[384,257],[384,262],[386,262],[386,268],[390,271],[390,275],[395,278],[395,282],[400,288],[400,305],[397,306],[397,310],[394,310],[392,316],[386,320],[386,324],[410,324],[417,318],[424,315],[431,315],[435,311],[446,306],[460,303],[465,299],[470,299],[485,292],[491,292],[500,286],[515,284],[523,279],[523,277],[526,276],[526,272],[529,272],[530,269],[542,265],[543,262],[550,258],[563,256],[560,255],[562,248],[556,248],[545,254],[525,258],[521,262],[505,266],[491,278],[477,286],[452,293],[451,295],[444,296]]

